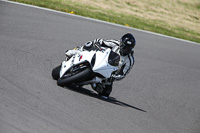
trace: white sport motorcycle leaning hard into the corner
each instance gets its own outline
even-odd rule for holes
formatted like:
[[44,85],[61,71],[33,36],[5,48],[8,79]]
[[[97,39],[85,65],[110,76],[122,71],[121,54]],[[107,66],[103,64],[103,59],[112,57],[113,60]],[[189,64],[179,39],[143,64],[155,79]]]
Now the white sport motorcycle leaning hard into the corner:
[[[52,70],[53,79],[59,86],[91,85],[102,96],[109,96],[112,86],[112,74],[117,71],[120,56],[110,48],[93,46],[90,50],[83,50]],[[104,84],[104,87],[102,85]]]

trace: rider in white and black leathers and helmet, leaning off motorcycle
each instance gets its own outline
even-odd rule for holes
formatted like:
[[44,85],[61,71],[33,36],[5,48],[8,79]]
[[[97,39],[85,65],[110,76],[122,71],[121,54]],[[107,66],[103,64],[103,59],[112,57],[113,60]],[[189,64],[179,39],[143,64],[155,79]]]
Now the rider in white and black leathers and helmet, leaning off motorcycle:
[[83,50],[89,50],[91,46],[98,44],[102,47],[111,48],[113,52],[120,55],[120,61],[118,65],[118,70],[111,76],[111,80],[102,82],[101,84],[92,84],[92,88],[97,91],[100,95],[109,96],[112,91],[112,84],[114,80],[123,79],[131,70],[134,65],[134,50],[136,41],[134,36],[131,33],[127,33],[121,37],[119,41],[117,40],[104,40],[104,39],[95,39],[93,42],[89,41],[84,46],[78,46],[74,50],[67,50],[66,56],[70,58],[72,55],[79,53]]

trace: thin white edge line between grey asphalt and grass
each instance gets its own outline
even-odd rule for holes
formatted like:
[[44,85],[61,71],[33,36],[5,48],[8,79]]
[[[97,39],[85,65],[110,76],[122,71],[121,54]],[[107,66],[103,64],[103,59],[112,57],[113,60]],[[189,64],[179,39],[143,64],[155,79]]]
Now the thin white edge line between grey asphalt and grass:
[[151,32],[151,31],[141,30],[141,29],[137,29],[137,28],[133,28],[133,27],[127,27],[127,26],[124,26],[124,25],[110,23],[110,22],[106,22],[106,21],[103,21],[103,20],[98,20],[98,19],[94,19],[94,18],[88,18],[88,17],[84,17],[84,16],[80,16],[80,15],[70,14],[70,13],[61,12],[61,11],[57,11],[57,10],[53,10],[53,9],[49,9],[49,8],[39,7],[39,6],[35,6],[35,5],[28,5],[28,4],[24,4],[24,3],[9,1],[9,0],[0,0],[0,1],[13,3],[13,4],[18,4],[18,5],[23,5],[23,6],[28,6],[28,7],[33,7],[33,8],[42,9],[42,10],[46,10],[46,11],[51,11],[51,12],[55,12],[55,13],[61,13],[61,14],[74,16],[74,17],[78,17],[78,18],[83,18],[83,19],[87,19],[87,20],[92,20],[92,21],[96,21],[96,22],[100,22],[100,23],[105,23],[105,24],[109,24],[109,25],[113,25],[113,26],[117,26],[117,27],[127,28],[127,29],[140,31],[140,32],[144,32],[144,33],[149,33],[149,34],[153,34],[153,35],[157,35],[157,36],[161,36],[161,37],[171,38],[171,39],[174,39],[174,40],[179,40],[179,41],[192,43],[192,44],[196,44],[196,45],[200,46],[200,43],[197,43],[197,42],[184,40],[184,39],[180,39],[180,38],[176,38],[176,37],[171,37],[171,36],[167,36],[167,35]]

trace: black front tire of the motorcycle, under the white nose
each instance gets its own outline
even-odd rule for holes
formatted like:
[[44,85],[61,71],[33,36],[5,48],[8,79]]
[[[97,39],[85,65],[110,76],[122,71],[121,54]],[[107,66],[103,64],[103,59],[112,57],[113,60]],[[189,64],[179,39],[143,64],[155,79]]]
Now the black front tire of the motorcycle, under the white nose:
[[87,78],[90,75],[91,75],[91,70],[89,68],[86,68],[85,70],[70,77],[58,79],[57,84],[62,87],[68,86],[71,85],[72,83],[82,82],[84,81],[85,78]]

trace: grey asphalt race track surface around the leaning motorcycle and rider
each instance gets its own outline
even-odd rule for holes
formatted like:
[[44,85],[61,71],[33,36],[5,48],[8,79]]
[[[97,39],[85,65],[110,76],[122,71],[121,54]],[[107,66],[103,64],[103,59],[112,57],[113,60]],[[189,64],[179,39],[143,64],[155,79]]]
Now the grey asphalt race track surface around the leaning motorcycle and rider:
[[[62,88],[51,70],[88,40],[136,37],[111,99]],[[0,133],[200,133],[200,45],[0,1]]]

